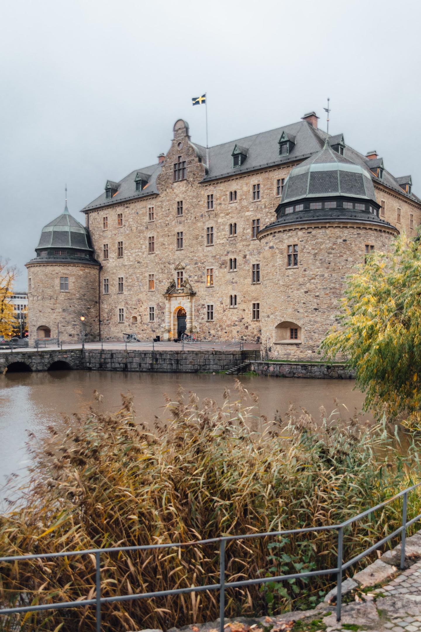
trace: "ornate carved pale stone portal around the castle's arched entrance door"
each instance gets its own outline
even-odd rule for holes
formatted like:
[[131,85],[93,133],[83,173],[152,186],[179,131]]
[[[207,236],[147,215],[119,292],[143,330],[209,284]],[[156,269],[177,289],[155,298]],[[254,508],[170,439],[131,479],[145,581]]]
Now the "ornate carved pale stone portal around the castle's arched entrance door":
[[[175,267],[176,279],[172,279],[168,288],[165,290],[165,332],[164,340],[174,340],[177,338],[177,315],[180,310],[186,312],[186,332],[193,332],[193,316],[194,316],[194,295],[189,279],[184,278],[184,265],[178,264]],[[184,315],[184,311],[181,311]]]

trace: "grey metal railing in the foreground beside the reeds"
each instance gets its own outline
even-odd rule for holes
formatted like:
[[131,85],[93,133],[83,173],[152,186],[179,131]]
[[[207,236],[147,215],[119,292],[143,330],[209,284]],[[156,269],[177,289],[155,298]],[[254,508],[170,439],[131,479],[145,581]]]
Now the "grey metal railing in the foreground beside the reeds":
[[[400,559],[400,568],[403,569],[405,565],[405,538],[406,538],[406,528],[408,526],[413,525],[413,523],[417,522],[421,518],[421,514],[415,516],[410,521],[406,521],[406,509],[408,503],[408,493],[417,489],[421,483],[417,483],[417,485],[412,485],[412,487],[408,487],[405,490],[402,490],[399,494],[394,495],[389,498],[387,501],[381,502],[375,507],[371,507],[366,511],[358,514],[358,516],[354,516],[349,520],[341,523],[340,525],[328,525],[328,526],[313,526],[305,529],[291,529],[287,531],[275,531],[275,532],[267,532],[267,533],[250,533],[247,535],[230,535],[223,536],[218,538],[210,538],[209,540],[196,540],[195,542],[177,542],[175,544],[148,544],[143,546],[133,546],[133,547],[111,547],[109,549],[86,549],[86,550],[76,550],[76,551],[62,551],[59,553],[45,553],[45,554],[34,554],[34,555],[26,555],[26,556],[8,556],[8,557],[0,557],[0,564],[4,564],[4,562],[15,562],[20,560],[29,560],[29,559],[51,559],[54,557],[74,557],[80,555],[95,555],[95,599],[84,599],[80,601],[71,601],[71,602],[59,602],[52,604],[40,604],[40,605],[27,605],[16,608],[4,608],[0,609],[0,615],[5,614],[14,614],[20,612],[36,612],[40,610],[56,610],[62,608],[81,608],[87,605],[95,605],[96,607],[96,624],[97,624],[97,632],[100,632],[101,629],[101,604],[109,604],[112,602],[124,602],[124,601],[132,601],[135,599],[151,599],[151,597],[165,597],[166,595],[181,595],[191,592],[203,592],[206,590],[219,590],[220,591],[220,632],[223,632],[224,628],[224,612],[225,612],[225,590],[227,588],[240,588],[241,586],[250,586],[254,584],[264,584],[273,581],[286,581],[293,579],[303,579],[306,577],[314,577],[318,575],[329,575],[336,574],[336,586],[337,586],[337,598],[336,598],[336,620],[340,621],[341,619],[341,606],[342,606],[342,574],[343,571],[346,571],[347,568],[350,568],[353,564],[358,562],[362,557],[365,557],[372,553],[374,550],[379,549],[383,544],[386,544],[391,538],[396,537],[401,533],[401,559]],[[373,544],[371,547],[365,549],[359,555],[353,557],[347,562],[343,562],[343,530],[352,525],[357,520],[361,520],[365,518],[365,516],[369,516],[369,514],[373,513],[377,509],[381,509],[381,507],[386,506],[389,502],[396,500],[403,496],[403,506],[402,506],[402,523],[401,526],[394,530],[394,532],[389,533],[386,537]],[[242,580],[242,581],[225,581],[225,544],[227,542],[232,542],[233,540],[247,540],[250,538],[264,538],[264,537],[275,537],[278,535],[292,535],[293,533],[301,534],[301,533],[314,533],[320,531],[328,531],[328,530],[336,530],[338,532],[338,562],[336,564],[336,568],[329,569],[321,569],[319,571],[309,571],[307,573],[291,573],[287,575],[278,575],[275,577],[262,577],[262,578],[252,578],[251,580]],[[189,586],[188,588],[175,588],[173,590],[159,590],[157,592],[148,592],[148,593],[137,593],[131,595],[117,595],[115,597],[101,597],[101,566],[100,566],[100,556],[102,553],[112,553],[112,552],[121,552],[121,551],[134,551],[134,550],[152,550],[152,549],[172,549],[172,548],[180,548],[180,547],[188,547],[195,546],[197,547],[200,544],[213,544],[219,543],[219,559],[220,559],[220,576],[219,582],[216,584],[210,584],[206,586]]]

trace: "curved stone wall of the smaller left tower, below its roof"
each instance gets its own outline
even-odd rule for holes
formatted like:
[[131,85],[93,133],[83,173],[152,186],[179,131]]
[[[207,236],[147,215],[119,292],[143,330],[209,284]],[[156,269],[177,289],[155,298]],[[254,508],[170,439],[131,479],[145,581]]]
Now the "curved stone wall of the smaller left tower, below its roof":
[[[85,316],[87,340],[97,340],[98,266],[83,264],[28,264],[32,291],[28,292],[28,331],[30,342],[37,328],[44,325],[51,337],[59,332],[63,341],[81,341],[81,316]],[[69,278],[69,291],[60,290],[60,277]]]

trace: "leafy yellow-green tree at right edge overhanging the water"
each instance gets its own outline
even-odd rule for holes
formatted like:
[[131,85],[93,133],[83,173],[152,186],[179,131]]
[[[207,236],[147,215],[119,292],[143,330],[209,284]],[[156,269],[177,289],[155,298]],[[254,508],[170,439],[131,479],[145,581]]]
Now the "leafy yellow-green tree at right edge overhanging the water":
[[348,277],[339,325],[321,344],[325,358],[347,358],[365,410],[421,424],[421,242],[401,234]]

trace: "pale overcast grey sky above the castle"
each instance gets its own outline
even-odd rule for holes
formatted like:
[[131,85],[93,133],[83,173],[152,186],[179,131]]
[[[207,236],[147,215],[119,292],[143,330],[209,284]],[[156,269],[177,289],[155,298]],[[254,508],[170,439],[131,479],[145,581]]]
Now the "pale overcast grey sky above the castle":
[[419,0],[2,0],[0,255],[108,178],[157,162],[177,118],[210,145],[319,114],[421,195]]

